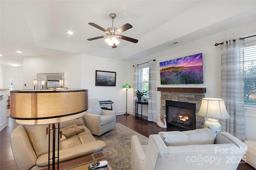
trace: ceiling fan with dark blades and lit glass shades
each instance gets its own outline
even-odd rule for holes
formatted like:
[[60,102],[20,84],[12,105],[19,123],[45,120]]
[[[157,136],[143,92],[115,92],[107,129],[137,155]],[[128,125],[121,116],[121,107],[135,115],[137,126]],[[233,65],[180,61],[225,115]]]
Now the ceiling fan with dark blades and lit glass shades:
[[130,28],[132,28],[132,25],[131,24],[124,24],[123,26],[121,26],[120,28],[116,29],[114,28],[114,18],[116,18],[116,14],[114,13],[111,13],[109,14],[110,18],[112,18],[112,27],[110,28],[102,28],[101,26],[98,26],[97,24],[94,24],[92,22],[89,22],[88,24],[95,27],[95,28],[98,28],[99,30],[102,30],[106,33],[105,36],[99,36],[99,37],[94,37],[94,38],[89,38],[87,39],[88,41],[92,41],[92,40],[97,40],[97,39],[100,39],[100,38],[106,38],[105,39],[105,42],[108,44],[108,45],[111,45],[112,48],[116,48],[117,45],[120,43],[116,38],[120,38],[122,40],[126,40],[126,41],[129,41],[129,42],[133,42],[133,43],[137,43],[138,40],[134,39],[134,38],[130,38],[130,37],[126,37],[126,36],[121,36],[120,34],[126,30],[129,30]]

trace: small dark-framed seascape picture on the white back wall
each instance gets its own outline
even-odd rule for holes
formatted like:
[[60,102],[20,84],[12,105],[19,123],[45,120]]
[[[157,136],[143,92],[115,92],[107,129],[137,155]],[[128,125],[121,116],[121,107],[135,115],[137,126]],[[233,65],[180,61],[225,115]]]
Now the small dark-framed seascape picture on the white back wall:
[[95,86],[116,86],[116,72],[96,70]]

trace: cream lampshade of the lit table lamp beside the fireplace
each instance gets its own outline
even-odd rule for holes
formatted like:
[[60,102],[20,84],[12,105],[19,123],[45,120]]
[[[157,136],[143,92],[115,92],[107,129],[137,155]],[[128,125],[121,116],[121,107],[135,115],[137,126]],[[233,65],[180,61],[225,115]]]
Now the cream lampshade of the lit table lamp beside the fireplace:
[[214,119],[230,118],[226,110],[224,100],[216,98],[203,98],[201,107],[197,114],[202,117],[210,117]]

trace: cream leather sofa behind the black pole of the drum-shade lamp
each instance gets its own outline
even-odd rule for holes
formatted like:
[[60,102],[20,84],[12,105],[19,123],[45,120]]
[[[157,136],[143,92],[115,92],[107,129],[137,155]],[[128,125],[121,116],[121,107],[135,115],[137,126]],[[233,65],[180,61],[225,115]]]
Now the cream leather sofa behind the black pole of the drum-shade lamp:
[[[72,125],[78,130],[82,128],[84,130],[82,130],[83,132],[77,131],[78,134],[71,134],[69,138],[66,138],[69,132],[65,133],[66,136],[62,135],[60,139],[60,163],[96,152],[102,152],[108,159],[108,154],[104,149],[105,142],[96,140],[92,136],[90,130],[84,126],[82,118],[60,123],[60,128],[66,127],[68,129]],[[48,167],[48,134],[46,134],[46,127],[48,125],[18,125],[12,131],[11,146],[18,169],[39,170]]]

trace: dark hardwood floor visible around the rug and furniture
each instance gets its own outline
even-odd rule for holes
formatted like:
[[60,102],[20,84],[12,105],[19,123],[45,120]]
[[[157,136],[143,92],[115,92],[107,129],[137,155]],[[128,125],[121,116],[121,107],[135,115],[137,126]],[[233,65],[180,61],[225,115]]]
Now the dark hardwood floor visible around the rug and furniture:
[[[8,126],[0,132],[0,170],[18,170],[14,157],[12,154],[12,148],[10,144],[10,134],[12,130],[18,125],[14,119],[7,117]],[[156,123],[148,122],[145,120],[135,119],[134,116],[116,116],[116,122],[121,123],[136,132],[149,136],[150,134],[158,134],[160,131],[173,131],[174,128],[160,128]],[[237,170],[255,170],[252,166],[246,163],[240,163]]]

